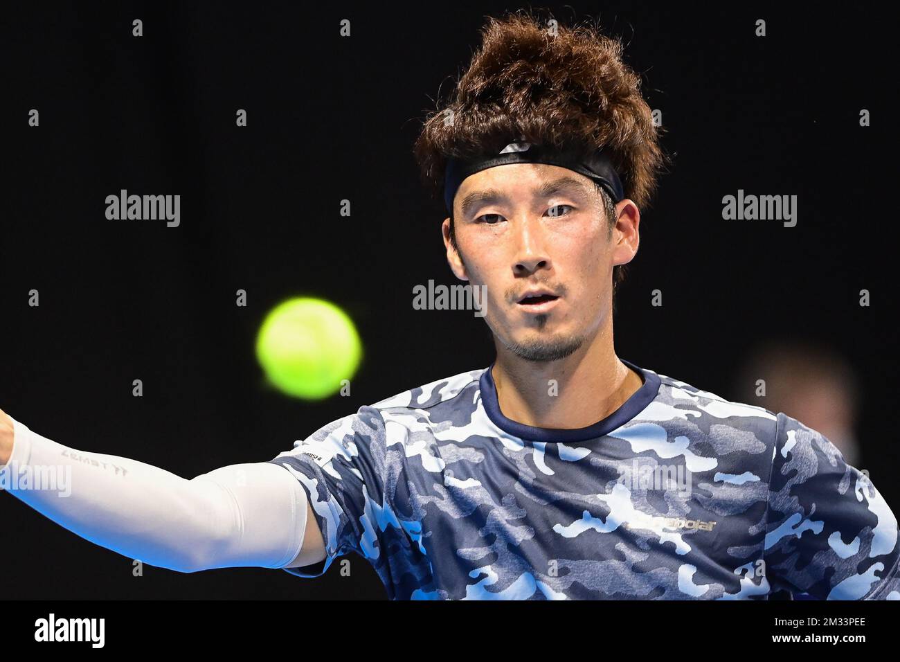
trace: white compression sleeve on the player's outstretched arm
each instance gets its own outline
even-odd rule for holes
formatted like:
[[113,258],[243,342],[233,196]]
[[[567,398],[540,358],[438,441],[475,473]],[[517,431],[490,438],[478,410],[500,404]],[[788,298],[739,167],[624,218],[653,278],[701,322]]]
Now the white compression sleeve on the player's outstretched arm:
[[85,540],[179,572],[284,567],[302,548],[307,496],[283,467],[238,464],[187,480],[13,423],[0,488]]

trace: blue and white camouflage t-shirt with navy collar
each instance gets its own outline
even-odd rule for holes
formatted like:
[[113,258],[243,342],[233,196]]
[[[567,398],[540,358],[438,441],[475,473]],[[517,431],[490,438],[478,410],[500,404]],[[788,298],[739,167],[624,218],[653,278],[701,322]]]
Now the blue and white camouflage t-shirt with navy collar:
[[[500,412],[491,368],[331,422],[269,460],[335,558],[392,599],[900,599],[897,521],[822,434],[653,370],[578,430]],[[492,366],[491,366],[492,367]]]

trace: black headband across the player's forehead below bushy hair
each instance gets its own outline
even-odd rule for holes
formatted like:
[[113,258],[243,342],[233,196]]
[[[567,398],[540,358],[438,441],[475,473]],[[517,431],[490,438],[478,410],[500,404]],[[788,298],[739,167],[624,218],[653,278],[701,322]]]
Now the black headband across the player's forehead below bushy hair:
[[585,155],[583,149],[558,150],[552,146],[526,142],[525,138],[522,137],[518,142],[510,142],[496,156],[467,161],[454,158],[447,159],[444,172],[444,204],[446,204],[447,212],[453,215],[453,201],[456,191],[463,184],[463,180],[466,177],[474,175],[481,170],[494,168],[495,166],[505,166],[508,163],[546,163],[551,166],[568,168],[603,186],[614,203],[625,199],[622,182],[619,180],[616,169],[613,168],[609,156],[603,148],[590,151]]

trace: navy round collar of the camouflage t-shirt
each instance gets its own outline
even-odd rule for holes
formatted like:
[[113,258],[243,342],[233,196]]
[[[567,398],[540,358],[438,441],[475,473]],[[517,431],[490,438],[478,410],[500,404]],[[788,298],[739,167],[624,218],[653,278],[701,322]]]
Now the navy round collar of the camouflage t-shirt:
[[497,387],[494,385],[494,377],[491,375],[491,367],[488,367],[479,379],[479,385],[482,391],[482,404],[484,411],[488,414],[488,418],[500,430],[508,432],[514,437],[521,440],[531,441],[561,441],[563,443],[572,443],[576,441],[587,441],[603,437],[626,422],[635,418],[638,413],[644,411],[644,408],[653,402],[653,399],[660,391],[660,376],[653,370],[645,370],[643,367],[637,367],[635,364],[620,358],[627,367],[632,368],[639,375],[644,377],[644,384],[630,398],[628,398],[622,406],[615,412],[609,414],[602,421],[598,421],[586,428],[576,428],[573,430],[561,430],[558,428],[537,428],[533,425],[513,421],[500,412],[500,403],[497,400]]

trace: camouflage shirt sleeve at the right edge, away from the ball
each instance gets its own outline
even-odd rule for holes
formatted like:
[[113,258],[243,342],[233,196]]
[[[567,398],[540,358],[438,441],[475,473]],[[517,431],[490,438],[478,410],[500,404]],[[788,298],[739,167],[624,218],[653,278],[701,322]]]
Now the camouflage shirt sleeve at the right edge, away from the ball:
[[773,590],[900,599],[897,521],[869,476],[820,432],[779,413],[763,559]]

